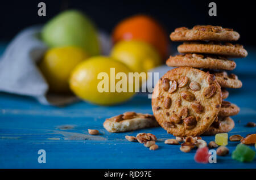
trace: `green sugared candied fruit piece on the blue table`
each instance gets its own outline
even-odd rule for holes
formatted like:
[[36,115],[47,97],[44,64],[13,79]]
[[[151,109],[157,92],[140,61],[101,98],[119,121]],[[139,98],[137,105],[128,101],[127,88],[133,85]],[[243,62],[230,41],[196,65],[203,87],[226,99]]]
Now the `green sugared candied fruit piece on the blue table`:
[[232,152],[232,158],[240,162],[250,162],[253,161],[255,152],[253,149],[245,144],[238,144],[235,151]]

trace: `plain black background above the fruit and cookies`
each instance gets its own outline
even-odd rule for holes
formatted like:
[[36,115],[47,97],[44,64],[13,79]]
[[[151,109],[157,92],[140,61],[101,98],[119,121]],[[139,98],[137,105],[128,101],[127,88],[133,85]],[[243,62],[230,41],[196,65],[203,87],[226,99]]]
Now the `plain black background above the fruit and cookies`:
[[[46,3],[46,15],[38,16],[38,3]],[[208,15],[209,2],[217,3],[217,16]],[[123,18],[148,14],[157,19],[168,33],[176,27],[196,24],[221,25],[241,35],[240,43],[254,45],[255,1],[1,1],[0,41],[10,41],[16,33],[33,24],[43,24],[68,8],[79,9],[108,33]]]

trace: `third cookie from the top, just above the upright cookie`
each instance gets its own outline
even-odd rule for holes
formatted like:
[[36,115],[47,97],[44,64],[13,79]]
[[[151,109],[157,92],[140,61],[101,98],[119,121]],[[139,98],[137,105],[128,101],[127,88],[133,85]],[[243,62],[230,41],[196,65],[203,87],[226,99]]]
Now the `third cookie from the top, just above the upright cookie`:
[[195,53],[179,54],[174,57],[170,56],[166,61],[166,65],[173,67],[210,68],[217,70],[233,70],[236,68],[236,63],[226,59],[225,57]]

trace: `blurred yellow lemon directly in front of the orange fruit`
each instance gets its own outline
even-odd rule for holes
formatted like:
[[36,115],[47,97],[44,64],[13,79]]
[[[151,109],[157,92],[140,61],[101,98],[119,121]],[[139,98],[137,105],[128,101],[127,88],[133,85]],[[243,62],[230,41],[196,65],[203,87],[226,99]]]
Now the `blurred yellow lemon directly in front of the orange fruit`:
[[119,41],[113,47],[111,57],[125,63],[134,72],[147,72],[161,63],[153,46],[137,40]]

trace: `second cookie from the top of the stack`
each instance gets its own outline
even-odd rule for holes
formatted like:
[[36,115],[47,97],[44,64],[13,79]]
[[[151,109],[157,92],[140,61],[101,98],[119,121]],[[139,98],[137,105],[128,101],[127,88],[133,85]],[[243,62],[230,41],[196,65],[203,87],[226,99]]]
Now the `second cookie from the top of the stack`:
[[221,44],[220,42],[184,42],[177,47],[179,53],[199,53],[199,54],[217,54],[229,57],[243,58],[247,56],[247,51],[242,45],[233,45],[230,42]]

